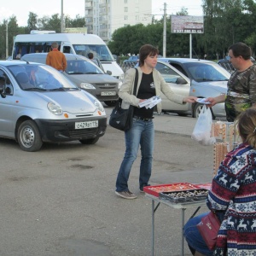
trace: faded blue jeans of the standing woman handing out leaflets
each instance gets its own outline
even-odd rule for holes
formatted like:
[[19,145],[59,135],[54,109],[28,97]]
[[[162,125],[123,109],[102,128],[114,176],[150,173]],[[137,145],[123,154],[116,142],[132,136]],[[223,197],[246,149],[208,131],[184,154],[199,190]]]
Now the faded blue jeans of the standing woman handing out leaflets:
[[143,189],[148,185],[151,176],[154,151],[154,122],[133,118],[132,127],[125,131],[125,157],[116,180],[116,191],[128,191],[128,179],[131,166],[137,159],[137,151],[141,145],[142,160],[140,166],[139,186]]

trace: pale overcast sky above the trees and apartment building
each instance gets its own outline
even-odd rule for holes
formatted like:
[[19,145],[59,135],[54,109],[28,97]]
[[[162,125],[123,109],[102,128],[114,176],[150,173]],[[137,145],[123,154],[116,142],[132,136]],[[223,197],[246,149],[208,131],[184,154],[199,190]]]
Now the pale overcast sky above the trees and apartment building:
[[[121,0],[120,0],[121,1]],[[61,0],[5,0],[0,5],[0,23],[15,15],[19,26],[26,26],[29,12],[42,18],[44,15],[61,15]],[[175,15],[182,7],[187,8],[189,15],[202,15],[201,0],[152,0],[152,14],[164,14],[166,3],[167,15]],[[63,0],[63,13],[72,19],[76,15],[84,16],[84,0]]]

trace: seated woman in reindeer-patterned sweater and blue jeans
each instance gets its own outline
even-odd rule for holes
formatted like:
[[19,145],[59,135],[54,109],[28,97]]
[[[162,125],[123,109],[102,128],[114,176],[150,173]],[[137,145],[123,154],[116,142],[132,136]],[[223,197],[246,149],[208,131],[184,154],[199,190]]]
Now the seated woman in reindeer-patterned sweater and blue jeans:
[[193,255],[256,256],[256,108],[239,115],[237,128],[243,143],[226,155],[207,197],[221,221],[216,247],[209,250],[196,228],[202,213],[183,229]]

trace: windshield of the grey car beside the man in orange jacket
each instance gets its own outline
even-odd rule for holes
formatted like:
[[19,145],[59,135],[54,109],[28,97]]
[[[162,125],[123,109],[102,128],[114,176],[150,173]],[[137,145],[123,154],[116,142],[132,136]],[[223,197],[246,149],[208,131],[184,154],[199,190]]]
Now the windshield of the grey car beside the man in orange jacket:
[[91,64],[89,61],[72,60],[67,61],[66,73],[73,74],[101,74],[102,69]]

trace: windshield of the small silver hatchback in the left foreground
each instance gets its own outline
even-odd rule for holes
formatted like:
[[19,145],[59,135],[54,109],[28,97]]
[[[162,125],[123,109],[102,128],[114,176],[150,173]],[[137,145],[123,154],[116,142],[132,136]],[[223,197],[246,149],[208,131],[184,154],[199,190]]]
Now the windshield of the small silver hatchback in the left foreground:
[[40,64],[9,66],[22,90],[79,90],[53,67]]

